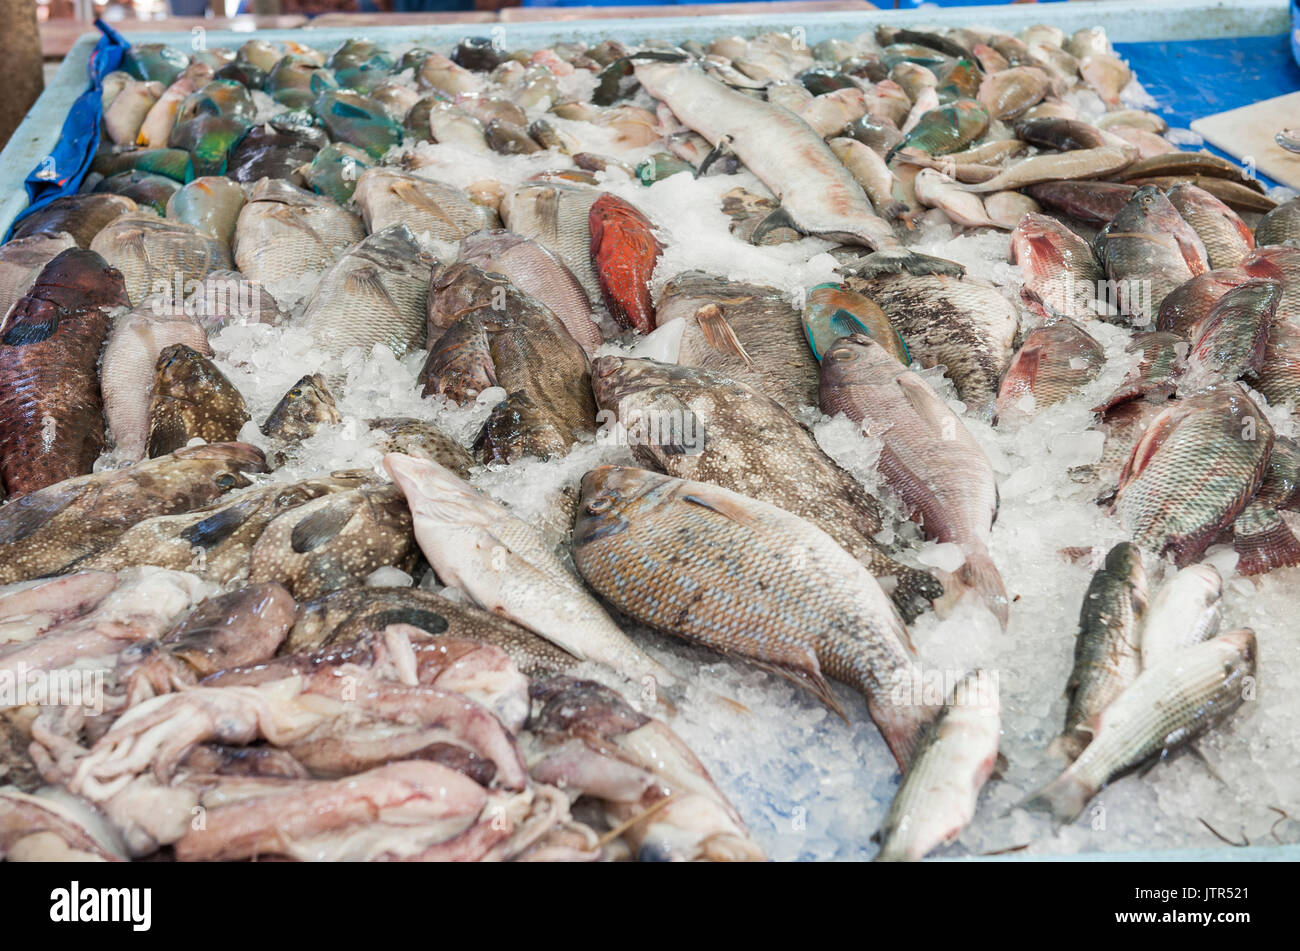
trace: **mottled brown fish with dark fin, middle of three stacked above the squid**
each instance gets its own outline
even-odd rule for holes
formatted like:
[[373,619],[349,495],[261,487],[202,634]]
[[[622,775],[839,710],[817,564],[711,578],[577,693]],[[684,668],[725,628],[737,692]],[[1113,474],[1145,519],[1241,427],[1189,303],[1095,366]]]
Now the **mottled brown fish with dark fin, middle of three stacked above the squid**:
[[159,565],[226,585],[248,576],[252,547],[273,518],[355,486],[355,479],[333,478],[256,486],[192,512],[144,518],[112,544],[73,564],[112,572]]

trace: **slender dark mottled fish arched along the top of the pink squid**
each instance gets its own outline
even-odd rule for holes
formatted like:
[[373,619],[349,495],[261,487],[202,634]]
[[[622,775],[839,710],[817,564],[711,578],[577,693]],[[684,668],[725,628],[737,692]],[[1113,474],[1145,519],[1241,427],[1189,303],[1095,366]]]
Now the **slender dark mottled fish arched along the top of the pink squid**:
[[520,673],[563,673],[580,663],[526,628],[472,604],[419,587],[344,587],[302,604],[281,653],[337,647],[404,624],[430,635],[465,638],[499,647]]

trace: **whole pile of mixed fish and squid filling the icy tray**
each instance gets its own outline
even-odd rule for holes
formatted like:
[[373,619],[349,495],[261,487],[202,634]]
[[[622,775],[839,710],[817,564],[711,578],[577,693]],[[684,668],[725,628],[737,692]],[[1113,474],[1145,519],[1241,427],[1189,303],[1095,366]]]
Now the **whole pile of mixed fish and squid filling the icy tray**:
[[[870,717],[880,860],[1231,741],[1300,200],[1135,90],[1050,26],[134,47],[0,246],[0,857],[762,860],[736,676]],[[997,440],[1079,407],[1048,748],[936,631],[1027,622]]]

